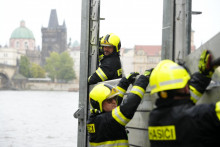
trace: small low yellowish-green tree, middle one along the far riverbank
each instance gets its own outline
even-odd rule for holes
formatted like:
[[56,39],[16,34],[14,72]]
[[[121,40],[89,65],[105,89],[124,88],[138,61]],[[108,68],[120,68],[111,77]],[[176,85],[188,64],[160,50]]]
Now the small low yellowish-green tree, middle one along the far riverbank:
[[30,74],[32,78],[45,78],[45,70],[35,63],[31,64]]

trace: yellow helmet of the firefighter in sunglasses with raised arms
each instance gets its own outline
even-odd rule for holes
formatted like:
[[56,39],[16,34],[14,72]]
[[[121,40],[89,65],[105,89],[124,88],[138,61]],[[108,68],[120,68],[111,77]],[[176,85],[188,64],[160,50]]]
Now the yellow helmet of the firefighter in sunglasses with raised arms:
[[93,109],[103,112],[102,102],[119,95],[119,91],[108,84],[96,85],[89,93],[89,102]]

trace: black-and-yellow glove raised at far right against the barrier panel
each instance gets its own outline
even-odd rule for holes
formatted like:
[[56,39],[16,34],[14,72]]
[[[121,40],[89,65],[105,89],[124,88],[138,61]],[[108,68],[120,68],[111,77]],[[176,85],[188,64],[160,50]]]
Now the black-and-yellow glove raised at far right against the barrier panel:
[[199,72],[208,78],[211,78],[216,67],[212,66],[212,54],[208,50],[204,50],[199,60]]

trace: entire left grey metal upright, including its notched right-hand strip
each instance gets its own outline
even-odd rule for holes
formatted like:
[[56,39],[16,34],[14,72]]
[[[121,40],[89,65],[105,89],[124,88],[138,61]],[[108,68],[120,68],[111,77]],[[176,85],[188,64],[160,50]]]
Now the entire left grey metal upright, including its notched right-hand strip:
[[97,68],[100,0],[82,0],[81,12],[79,109],[74,113],[74,117],[78,118],[77,146],[87,147],[86,121],[90,90],[87,79]]

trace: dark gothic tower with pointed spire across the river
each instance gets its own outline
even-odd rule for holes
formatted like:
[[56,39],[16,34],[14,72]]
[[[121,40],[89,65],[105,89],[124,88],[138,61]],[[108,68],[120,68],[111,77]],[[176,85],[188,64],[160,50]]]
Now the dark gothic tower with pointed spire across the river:
[[41,64],[46,63],[46,58],[51,52],[62,53],[67,49],[67,29],[65,21],[59,25],[56,9],[52,9],[48,27],[41,28],[42,32],[42,51]]

